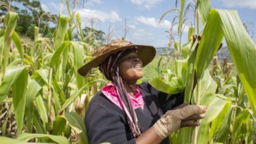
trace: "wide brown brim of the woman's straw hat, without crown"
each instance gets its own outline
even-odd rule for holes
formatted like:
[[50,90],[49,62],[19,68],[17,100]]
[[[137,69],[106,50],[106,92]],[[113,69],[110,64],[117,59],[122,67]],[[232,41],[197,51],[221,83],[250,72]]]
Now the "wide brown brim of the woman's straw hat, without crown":
[[133,48],[133,47],[137,47],[137,50],[138,50],[137,53],[139,55],[140,60],[143,63],[143,67],[148,65],[148,63],[150,63],[156,56],[156,49],[153,46],[147,46],[147,45],[130,45],[130,46],[121,46],[121,47],[114,46],[114,48],[112,48],[108,52],[101,54],[96,58],[93,58],[93,60],[91,60],[88,63],[85,63],[85,65],[83,65],[78,69],[78,73],[85,77],[92,68],[98,67],[98,65],[104,60],[106,60],[106,58],[108,58],[108,56],[110,56],[111,54],[114,54],[121,50],[126,50],[128,48]]

